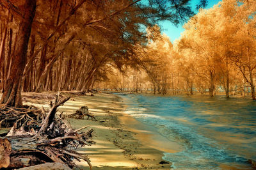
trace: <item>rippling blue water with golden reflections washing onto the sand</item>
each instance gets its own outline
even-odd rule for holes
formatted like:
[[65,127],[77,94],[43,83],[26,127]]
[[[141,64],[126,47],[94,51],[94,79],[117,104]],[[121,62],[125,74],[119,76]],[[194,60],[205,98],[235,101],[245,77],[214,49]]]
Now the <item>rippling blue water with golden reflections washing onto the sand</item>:
[[122,97],[126,111],[184,146],[164,153],[175,169],[251,169],[256,160],[256,102],[225,97]]

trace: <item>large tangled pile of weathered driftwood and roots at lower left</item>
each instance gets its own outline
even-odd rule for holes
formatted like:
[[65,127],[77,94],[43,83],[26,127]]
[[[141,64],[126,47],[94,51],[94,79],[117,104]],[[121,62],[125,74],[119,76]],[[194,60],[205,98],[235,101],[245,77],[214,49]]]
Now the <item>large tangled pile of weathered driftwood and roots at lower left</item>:
[[57,108],[68,98],[60,98],[60,93],[49,111],[31,106],[17,109],[2,107],[0,119],[2,127],[12,125],[6,136],[0,138],[0,168],[15,169],[34,166],[45,162],[60,162],[72,168],[74,160],[85,160],[92,165],[86,155],[77,153],[77,148],[94,144],[93,130],[80,132],[72,129]]

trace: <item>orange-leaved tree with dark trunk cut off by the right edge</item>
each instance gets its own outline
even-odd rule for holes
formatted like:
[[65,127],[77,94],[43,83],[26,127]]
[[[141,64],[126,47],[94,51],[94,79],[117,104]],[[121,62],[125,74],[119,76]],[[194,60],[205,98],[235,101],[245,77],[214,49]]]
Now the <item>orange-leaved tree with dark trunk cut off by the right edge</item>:
[[241,4],[237,4],[237,1],[229,0],[225,1],[223,6],[228,8],[227,5],[230,3],[234,4],[233,8],[229,8],[233,14],[230,21],[235,23],[234,27],[239,27],[234,34],[233,40],[236,40],[236,43],[232,43],[230,59],[234,61],[246,82],[250,84],[252,99],[256,100],[254,83],[256,68],[256,4],[255,1],[243,1]]

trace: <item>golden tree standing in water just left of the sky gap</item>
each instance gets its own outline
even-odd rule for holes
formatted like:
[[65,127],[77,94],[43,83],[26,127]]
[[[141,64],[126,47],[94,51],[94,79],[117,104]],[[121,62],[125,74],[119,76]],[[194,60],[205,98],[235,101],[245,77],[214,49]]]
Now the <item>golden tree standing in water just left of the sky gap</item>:
[[157,25],[148,27],[147,32],[148,45],[139,50],[138,55],[141,55],[143,69],[154,86],[154,93],[165,95],[170,87],[172,43],[168,36],[161,35]]

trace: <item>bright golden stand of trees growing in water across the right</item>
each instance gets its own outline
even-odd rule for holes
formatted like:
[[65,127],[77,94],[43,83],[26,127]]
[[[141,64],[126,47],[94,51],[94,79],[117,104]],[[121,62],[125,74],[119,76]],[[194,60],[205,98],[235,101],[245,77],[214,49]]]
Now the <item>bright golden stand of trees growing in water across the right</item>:
[[254,1],[222,1],[200,9],[173,43],[161,27],[148,27],[149,43],[136,45],[140,68],[116,72],[118,79],[112,77],[109,86],[97,86],[211,97],[223,91],[226,97],[251,95],[255,100],[255,11]]

